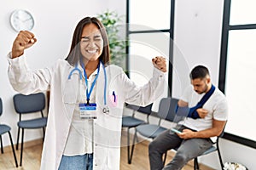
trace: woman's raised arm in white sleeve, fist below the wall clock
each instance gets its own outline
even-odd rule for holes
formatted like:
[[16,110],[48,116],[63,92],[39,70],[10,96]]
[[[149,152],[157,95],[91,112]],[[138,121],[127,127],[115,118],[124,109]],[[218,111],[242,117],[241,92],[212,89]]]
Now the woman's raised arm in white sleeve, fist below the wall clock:
[[15,91],[21,94],[33,94],[49,89],[51,70],[40,69],[31,71],[26,65],[24,51],[37,42],[30,31],[20,31],[9,53],[9,82]]

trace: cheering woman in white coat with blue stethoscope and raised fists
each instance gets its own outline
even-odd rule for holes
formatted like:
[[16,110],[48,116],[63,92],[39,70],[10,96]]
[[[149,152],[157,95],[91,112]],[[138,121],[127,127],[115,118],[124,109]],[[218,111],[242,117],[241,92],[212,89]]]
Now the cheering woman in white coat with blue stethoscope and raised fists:
[[162,93],[166,60],[152,59],[154,76],[137,87],[108,65],[107,33],[96,18],[80,20],[67,59],[52,68],[29,71],[24,50],[37,39],[20,31],[9,54],[9,80],[22,94],[50,90],[41,169],[119,169],[124,103],[148,105]]

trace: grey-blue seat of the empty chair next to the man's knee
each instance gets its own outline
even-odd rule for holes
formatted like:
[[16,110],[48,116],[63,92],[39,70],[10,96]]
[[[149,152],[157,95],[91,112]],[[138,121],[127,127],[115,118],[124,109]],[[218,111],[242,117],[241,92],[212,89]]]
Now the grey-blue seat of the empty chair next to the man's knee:
[[137,127],[138,133],[142,134],[146,138],[151,138],[151,139],[154,139],[165,130],[166,130],[165,127],[160,127],[154,124],[140,125]]

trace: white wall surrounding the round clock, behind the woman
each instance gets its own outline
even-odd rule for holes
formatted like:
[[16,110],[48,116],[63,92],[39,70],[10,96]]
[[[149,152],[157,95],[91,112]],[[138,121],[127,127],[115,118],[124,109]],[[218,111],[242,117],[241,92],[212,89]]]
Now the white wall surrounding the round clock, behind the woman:
[[[52,66],[56,59],[65,59],[71,45],[74,27],[85,16],[94,16],[107,8],[125,14],[125,1],[119,0],[3,0],[0,6],[0,97],[3,99],[1,123],[12,127],[11,133],[16,143],[18,115],[15,113],[12,97],[16,92],[7,77],[8,61],[6,55],[12,47],[17,32],[9,25],[9,16],[16,8],[30,11],[35,19],[32,32],[38,42],[26,50],[27,62],[31,69]],[[124,20],[125,21],[125,20]],[[42,130],[26,130],[25,140],[43,137]],[[9,145],[8,135],[3,135],[3,145]]]

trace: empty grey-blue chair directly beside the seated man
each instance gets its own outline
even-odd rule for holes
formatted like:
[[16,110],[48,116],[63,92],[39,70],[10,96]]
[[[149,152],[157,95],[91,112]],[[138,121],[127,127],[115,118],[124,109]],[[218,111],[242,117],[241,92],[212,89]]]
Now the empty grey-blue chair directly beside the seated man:
[[[158,124],[141,124],[136,127],[136,131],[133,138],[133,145],[135,144],[135,139],[137,139],[137,133],[142,135],[143,137],[154,139],[160,133],[164,132],[167,128],[161,127],[160,123],[162,120],[170,121],[170,122],[178,122],[177,116],[175,113],[178,99],[175,98],[163,98],[160,100],[159,111],[156,113],[156,116],[159,118]],[[131,153],[133,153],[133,149]],[[166,154],[164,157],[164,162],[166,161]]]

